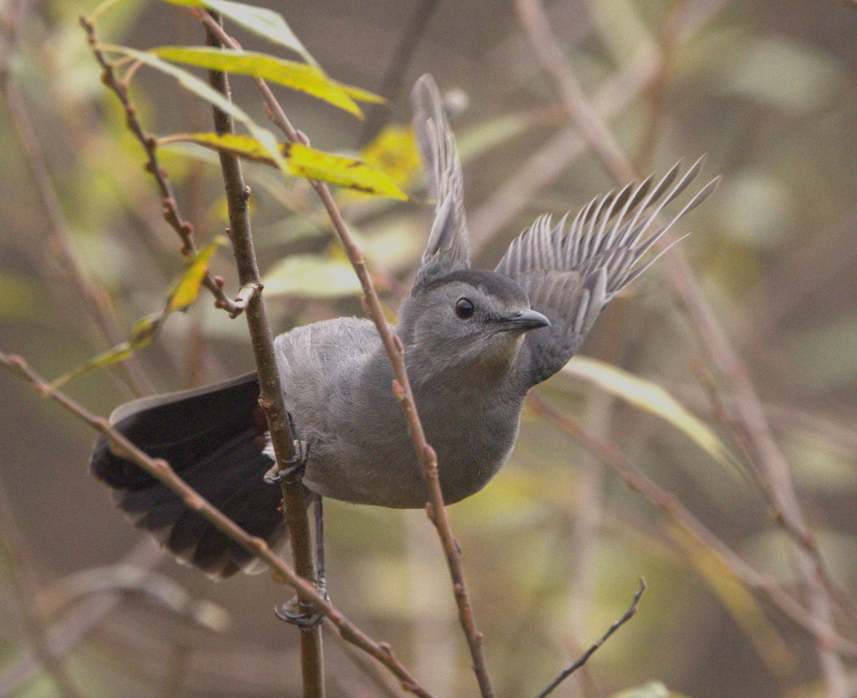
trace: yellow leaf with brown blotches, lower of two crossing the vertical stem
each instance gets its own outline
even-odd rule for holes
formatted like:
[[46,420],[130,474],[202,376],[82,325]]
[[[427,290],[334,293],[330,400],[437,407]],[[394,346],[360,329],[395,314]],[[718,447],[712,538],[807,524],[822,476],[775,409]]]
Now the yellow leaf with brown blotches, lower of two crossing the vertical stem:
[[[159,145],[169,143],[197,143],[221,152],[231,152],[256,162],[273,164],[267,147],[251,136],[240,134],[175,134],[159,139]],[[280,154],[285,158],[286,168],[292,175],[323,180],[340,187],[356,189],[375,196],[407,200],[408,196],[381,170],[375,170],[356,158],[344,158],[302,146],[299,143],[279,144]]]

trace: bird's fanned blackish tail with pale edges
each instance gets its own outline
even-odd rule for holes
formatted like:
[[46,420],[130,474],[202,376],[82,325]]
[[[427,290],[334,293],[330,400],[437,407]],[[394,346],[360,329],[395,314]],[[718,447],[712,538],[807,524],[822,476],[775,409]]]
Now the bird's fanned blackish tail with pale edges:
[[[286,541],[278,486],[262,480],[272,462],[255,373],[225,383],[148,397],[111,415],[111,424],[147,454],[163,458],[204,498],[249,534],[277,548]],[[221,534],[158,480],[113,454],[104,438],[90,470],[137,528],[154,535],[184,562],[211,576],[252,567],[254,558]]]

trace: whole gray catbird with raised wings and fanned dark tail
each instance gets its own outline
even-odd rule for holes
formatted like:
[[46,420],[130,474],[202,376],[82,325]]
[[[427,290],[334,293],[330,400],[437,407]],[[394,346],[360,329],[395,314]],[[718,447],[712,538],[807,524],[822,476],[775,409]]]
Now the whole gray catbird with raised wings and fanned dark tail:
[[[671,221],[650,230],[663,206],[692,182],[701,158],[676,164],[590,201],[570,225],[542,216],[494,271],[470,268],[461,165],[434,81],[413,91],[417,138],[436,201],[428,248],[395,327],[446,503],[478,492],[500,469],[518,435],[527,391],[577,351],[598,313],[654,260],[640,258],[716,180]],[[422,507],[426,491],[393,372],[368,319],[298,327],[275,342],[286,409],[305,458],[303,482],[325,497],[388,507]],[[255,373],[123,405],[111,422],[249,533],[285,540],[279,487],[263,482],[272,464]],[[214,576],[251,562],[134,464],[95,444],[92,472],[113,488],[135,526]]]

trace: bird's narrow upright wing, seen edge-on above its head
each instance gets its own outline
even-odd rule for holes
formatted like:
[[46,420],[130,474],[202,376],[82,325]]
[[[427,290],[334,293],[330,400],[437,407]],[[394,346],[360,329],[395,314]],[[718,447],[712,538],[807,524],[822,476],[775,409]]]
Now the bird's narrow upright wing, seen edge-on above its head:
[[423,75],[411,92],[417,143],[434,198],[434,224],[417,272],[415,288],[452,271],[470,268],[470,243],[464,218],[461,163],[455,136],[446,121],[440,92],[431,75]]

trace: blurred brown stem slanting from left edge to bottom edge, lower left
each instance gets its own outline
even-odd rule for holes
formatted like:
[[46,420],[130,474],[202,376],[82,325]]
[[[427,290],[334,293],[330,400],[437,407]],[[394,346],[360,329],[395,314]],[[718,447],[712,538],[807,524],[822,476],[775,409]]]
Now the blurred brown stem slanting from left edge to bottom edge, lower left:
[[0,483],[0,552],[8,558],[12,590],[33,651],[65,698],[81,698],[65,662],[51,651],[48,641],[50,622],[39,605],[39,581],[33,571],[24,536],[12,517],[12,507],[3,483]]

